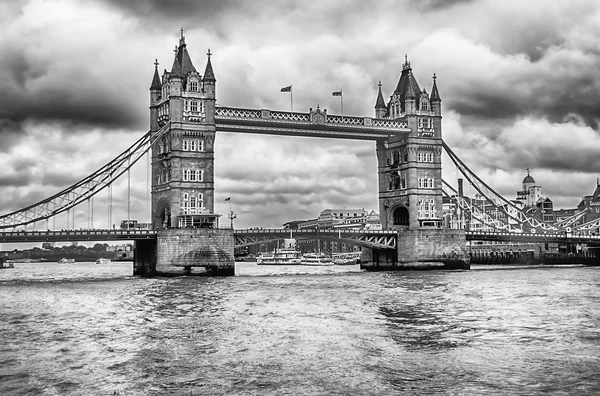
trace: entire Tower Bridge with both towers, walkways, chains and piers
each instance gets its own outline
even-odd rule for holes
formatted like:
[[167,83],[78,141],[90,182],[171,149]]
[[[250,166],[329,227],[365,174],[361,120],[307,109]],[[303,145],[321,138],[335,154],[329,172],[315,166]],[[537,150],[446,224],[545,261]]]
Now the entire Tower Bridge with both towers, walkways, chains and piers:
[[[218,106],[211,53],[208,51],[204,72],[200,73],[182,32],[170,71],[160,73],[155,62],[149,131],[78,183],[26,208],[0,215],[0,242],[128,238],[135,241],[136,274],[177,272],[181,266],[200,265],[214,274],[232,275],[236,246],[280,239],[289,233],[233,230],[219,224],[221,215],[214,211],[214,147],[218,132],[234,132],[373,141],[383,230],[294,231],[306,238],[362,246],[362,261],[371,263],[373,269],[468,268],[466,245],[472,240],[559,240],[598,246],[593,234],[600,227],[600,215],[582,221],[583,210],[560,222],[545,223],[474,174],[443,142],[442,100],[436,76],[428,92],[419,86],[408,59],[401,69],[388,100],[379,84],[373,117],[332,115],[318,105],[307,112]],[[457,188],[442,180],[443,153],[464,178]],[[69,214],[78,205],[87,203],[93,208],[91,199],[111,189],[115,180],[128,175],[146,155],[151,162],[151,230],[17,232],[17,228],[36,222],[45,222],[44,228],[49,229],[51,219]],[[484,197],[485,205],[464,195],[463,180]],[[450,203],[450,211],[444,209],[444,200]],[[494,232],[466,226],[475,223]]]

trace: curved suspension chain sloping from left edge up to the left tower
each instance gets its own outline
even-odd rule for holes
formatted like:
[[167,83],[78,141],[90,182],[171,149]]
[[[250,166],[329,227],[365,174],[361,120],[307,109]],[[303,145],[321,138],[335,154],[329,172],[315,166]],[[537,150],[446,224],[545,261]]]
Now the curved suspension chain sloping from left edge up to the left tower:
[[[64,190],[23,209],[0,216],[0,229],[24,226],[63,213],[117,180],[142,158],[148,150],[168,131],[169,123],[155,132],[147,132],[131,147],[91,175]],[[75,216],[75,214],[73,214]]]

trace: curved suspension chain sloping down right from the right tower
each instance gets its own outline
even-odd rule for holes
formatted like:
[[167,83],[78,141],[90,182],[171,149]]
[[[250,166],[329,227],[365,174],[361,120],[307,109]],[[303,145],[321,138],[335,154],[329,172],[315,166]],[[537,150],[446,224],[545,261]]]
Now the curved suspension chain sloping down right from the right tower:
[[473,171],[471,171],[458,156],[448,147],[448,145],[442,141],[442,145],[456,166],[456,168],[462,173],[465,179],[481,194],[495,209],[501,211],[506,215],[507,218],[513,219],[522,229],[523,226],[527,226],[530,229],[540,229],[544,231],[561,231],[554,225],[550,225],[539,221],[533,216],[527,215],[515,204],[504,198],[502,195],[494,191],[488,186],[483,180],[481,180]]

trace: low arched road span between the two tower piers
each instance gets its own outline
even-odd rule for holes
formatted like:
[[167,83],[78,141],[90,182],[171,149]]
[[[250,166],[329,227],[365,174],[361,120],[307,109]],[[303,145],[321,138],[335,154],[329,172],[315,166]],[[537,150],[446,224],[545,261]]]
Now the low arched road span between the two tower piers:
[[360,231],[336,229],[247,229],[235,230],[235,247],[256,245],[285,238],[325,239],[376,249],[396,249],[396,231]]

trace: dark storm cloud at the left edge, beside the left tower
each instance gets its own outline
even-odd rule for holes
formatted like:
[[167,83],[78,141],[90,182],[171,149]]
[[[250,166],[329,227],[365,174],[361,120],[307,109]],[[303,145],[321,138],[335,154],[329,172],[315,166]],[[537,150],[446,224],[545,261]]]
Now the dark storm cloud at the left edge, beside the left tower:
[[25,121],[109,128],[145,121],[126,95],[84,68],[52,74],[52,64],[25,60],[20,49],[0,47],[0,52],[5,54],[0,60],[0,133],[20,130]]

